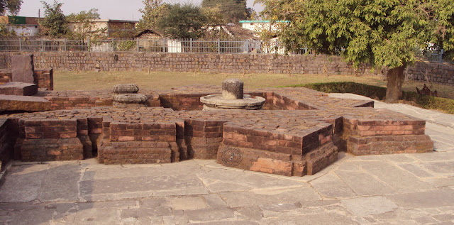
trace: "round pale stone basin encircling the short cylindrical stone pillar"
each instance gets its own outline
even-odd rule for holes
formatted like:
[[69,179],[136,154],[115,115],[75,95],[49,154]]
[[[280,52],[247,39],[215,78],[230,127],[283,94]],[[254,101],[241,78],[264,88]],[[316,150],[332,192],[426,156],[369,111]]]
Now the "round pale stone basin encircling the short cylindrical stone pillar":
[[265,99],[262,97],[250,97],[249,94],[244,94],[243,99],[223,99],[222,94],[210,94],[200,97],[200,101],[204,104],[204,110],[215,109],[262,109],[265,104]]

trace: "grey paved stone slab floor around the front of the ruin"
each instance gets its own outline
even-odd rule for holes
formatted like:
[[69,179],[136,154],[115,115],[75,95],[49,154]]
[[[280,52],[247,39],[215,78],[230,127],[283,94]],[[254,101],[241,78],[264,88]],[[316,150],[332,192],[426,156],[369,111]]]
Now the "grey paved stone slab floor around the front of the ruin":
[[340,153],[335,164],[305,177],[226,168],[214,160],[15,163],[0,187],[0,223],[454,224],[454,116],[375,106],[428,120],[436,153]]

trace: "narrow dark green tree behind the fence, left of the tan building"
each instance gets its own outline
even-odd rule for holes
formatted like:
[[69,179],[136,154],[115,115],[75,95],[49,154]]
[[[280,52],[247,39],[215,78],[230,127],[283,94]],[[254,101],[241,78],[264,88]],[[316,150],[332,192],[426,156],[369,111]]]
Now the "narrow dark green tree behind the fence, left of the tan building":
[[65,35],[68,31],[68,24],[61,9],[63,4],[57,1],[54,1],[52,6],[45,1],[41,1],[41,3],[45,8],[44,18],[39,21],[41,32],[50,37],[61,37]]

